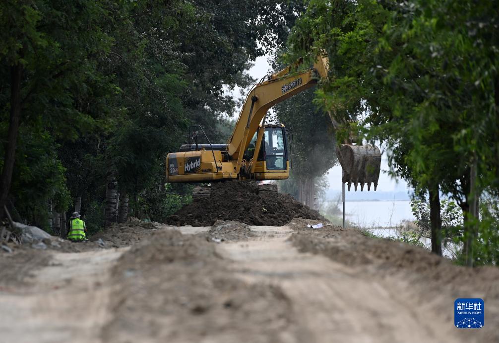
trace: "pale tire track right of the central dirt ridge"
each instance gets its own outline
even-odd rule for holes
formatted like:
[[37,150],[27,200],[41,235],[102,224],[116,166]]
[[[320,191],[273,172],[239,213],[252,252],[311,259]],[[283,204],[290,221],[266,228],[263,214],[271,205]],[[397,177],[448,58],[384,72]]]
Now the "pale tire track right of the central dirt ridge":
[[217,251],[234,261],[231,269],[245,281],[281,288],[296,321],[309,333],[308,342],[460,342],[459,336],[442,330],[452,327],[446,318],[408,310],[399,301],[400,284],[300,253],[285,238],[221,244]]

